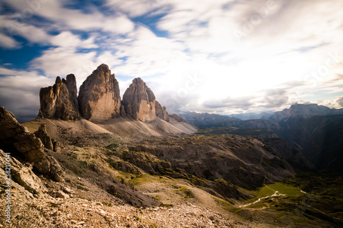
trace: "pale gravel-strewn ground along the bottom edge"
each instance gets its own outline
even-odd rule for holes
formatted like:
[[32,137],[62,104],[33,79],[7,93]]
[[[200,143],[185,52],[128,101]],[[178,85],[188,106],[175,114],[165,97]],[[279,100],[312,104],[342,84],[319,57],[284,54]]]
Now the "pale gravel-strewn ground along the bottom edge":
[[[13,201],[10,227],[250,227],[189,203],[146,209],[104,203],[78,198]],[[8,227],[0,218],[0,227]]]

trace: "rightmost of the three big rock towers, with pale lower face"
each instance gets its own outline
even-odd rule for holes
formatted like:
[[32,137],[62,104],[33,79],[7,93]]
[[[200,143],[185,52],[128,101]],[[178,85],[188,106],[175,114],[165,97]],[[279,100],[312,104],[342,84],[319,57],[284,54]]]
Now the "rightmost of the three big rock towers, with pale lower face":
[[154,93],[141,78],[135,78],[123,94],[123,106],[126,114],[137,121],[156,119]]

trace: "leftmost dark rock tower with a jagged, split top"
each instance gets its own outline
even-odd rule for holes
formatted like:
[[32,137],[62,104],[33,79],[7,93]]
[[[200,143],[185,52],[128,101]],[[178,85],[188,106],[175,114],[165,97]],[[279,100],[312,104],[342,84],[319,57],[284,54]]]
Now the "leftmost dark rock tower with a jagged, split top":
[[54,86],[40,88],[40,113],[39,117],[75,121],[80,118],[76,80],[74,75],[66,79],[56,77]]

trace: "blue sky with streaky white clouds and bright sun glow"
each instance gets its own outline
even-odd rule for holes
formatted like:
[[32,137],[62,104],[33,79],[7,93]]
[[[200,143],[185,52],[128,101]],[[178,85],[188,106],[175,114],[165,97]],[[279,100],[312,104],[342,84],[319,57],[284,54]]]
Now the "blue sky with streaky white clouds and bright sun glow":
[[39,90],[108,64],[169,113],[343,107],[342,0],[0,0],[0,105],[36,118]]

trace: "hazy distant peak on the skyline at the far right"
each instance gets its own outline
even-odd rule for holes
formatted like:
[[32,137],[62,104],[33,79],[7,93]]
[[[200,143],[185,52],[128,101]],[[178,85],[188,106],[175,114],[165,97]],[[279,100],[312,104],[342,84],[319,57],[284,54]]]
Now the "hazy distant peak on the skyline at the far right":
[[343,114],[343,109],[337,110],[334,108],[325,107],[323,105],[318,104],[295,104],[291,105],[291,107],[286,108],[280,112],[274,112],[272,116],[270,116],[271,121],[281,121],[285,118],[290,117],[311,117],[311,116],[320,116],[320,115],[336,115],[336,114]]

